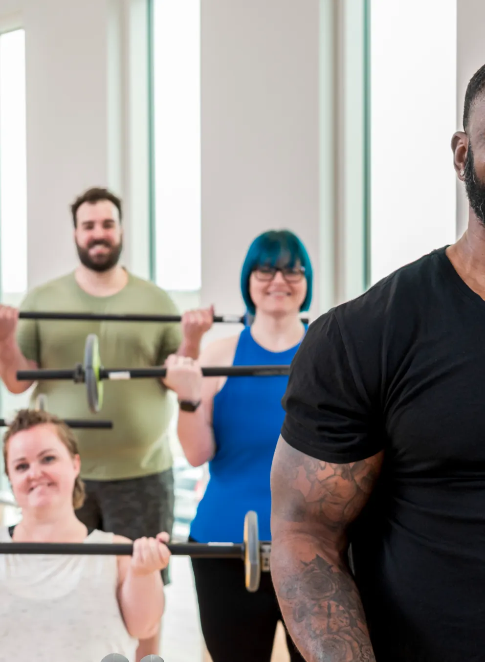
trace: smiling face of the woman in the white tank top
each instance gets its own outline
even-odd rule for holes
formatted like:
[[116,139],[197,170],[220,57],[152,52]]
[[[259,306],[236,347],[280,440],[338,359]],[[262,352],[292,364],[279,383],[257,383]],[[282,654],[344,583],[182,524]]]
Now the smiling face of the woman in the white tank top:
[[13,495],[22,510],[72,505],[79,455],[69,453],[54,425],[41,424],[13,434],[6,460]]

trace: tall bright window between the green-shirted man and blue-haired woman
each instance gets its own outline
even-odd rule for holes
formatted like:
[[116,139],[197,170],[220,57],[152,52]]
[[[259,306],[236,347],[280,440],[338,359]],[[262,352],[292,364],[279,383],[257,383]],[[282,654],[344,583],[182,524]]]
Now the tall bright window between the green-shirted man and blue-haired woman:
[[200,289],[200,0],[153,0],[155,282]]

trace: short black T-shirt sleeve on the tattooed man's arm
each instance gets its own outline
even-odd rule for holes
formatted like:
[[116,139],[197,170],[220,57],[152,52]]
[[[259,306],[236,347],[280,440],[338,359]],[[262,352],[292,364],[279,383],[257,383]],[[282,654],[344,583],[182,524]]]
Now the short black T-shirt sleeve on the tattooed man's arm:
[[[292,361],[281,436],[306,455],[344,464],[378,453],[384,435],[369,389],[377,375],[360,374],[362,362],[344,342],[335,310],[310,325]],[[363,351],[363,344],[358,346]],[[378,371],[375,359],[371,363]]]

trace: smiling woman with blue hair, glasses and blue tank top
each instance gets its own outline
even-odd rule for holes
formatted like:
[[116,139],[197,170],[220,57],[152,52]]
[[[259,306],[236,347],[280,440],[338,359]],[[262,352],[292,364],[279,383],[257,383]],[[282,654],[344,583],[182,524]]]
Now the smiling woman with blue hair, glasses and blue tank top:
[[[264,232],[249,246],[241,291],[253,324],[216,340],[200,355],[168,357],[164,382],[179,397],[178,434],[189,462],[209,461],[210,479],[191,526],[191,540],[241,542],[244,516],[255,510],[259,537],[271,540],[270,471],[285,412],[288,377],[202,377],[201,365],[287,365],[306,332],[300,311],[312,300],[312,265],[296,235]],[[255,593],[243,563],[192,559],[200,623],[213,662],[269,662],[283,622],[270,573]],[[302,662],[287,636],[292,662]]]

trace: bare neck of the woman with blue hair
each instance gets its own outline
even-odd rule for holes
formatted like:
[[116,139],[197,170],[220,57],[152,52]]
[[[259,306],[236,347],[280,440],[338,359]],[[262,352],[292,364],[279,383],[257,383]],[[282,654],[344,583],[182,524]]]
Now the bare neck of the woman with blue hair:
[[285,352],[294,347],[304,331],[302,321],[294,313],[275,316],[257,310],[251,324],[253,339],[270,352]]

